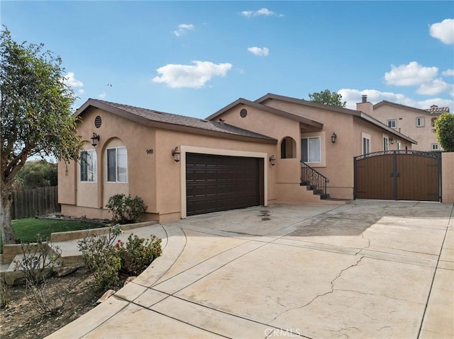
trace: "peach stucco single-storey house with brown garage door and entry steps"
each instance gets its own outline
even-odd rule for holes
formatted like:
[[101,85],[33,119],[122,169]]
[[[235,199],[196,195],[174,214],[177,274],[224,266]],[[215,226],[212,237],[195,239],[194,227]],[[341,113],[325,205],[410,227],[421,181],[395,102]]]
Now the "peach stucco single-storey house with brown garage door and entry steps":
[[354,156],[415,144],[358,110],[275,94],[239,98],[205,120],[94,99],[75,115],[84,151],[59,164],[59,202],[62,214],[88,218],[109,218],[116,193],[142,197],[145,219],[160,222],[351,200]]

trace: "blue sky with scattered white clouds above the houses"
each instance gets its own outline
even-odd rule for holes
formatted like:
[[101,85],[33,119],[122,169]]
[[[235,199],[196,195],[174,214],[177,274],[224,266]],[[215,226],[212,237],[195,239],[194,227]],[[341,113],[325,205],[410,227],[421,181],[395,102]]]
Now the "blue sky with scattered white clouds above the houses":
[[88,98],[207,117],[329,89],[454,112],[453,1],[1,1],[13,39]]

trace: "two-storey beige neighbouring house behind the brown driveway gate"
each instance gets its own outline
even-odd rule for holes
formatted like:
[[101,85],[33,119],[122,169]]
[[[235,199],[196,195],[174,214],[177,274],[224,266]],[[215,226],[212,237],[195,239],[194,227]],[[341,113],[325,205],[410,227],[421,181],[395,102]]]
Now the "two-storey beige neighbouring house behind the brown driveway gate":
[[438,144],[434,122],[442,113],[449,112],[448,107],[432,105],[431,108],[421,110],[386,100],[372,105],[367,102],[367,96],[362,96],[362,103],[358,103],[357,109],[416,140],[418,144],[413,146],[416,151],[442,150]]

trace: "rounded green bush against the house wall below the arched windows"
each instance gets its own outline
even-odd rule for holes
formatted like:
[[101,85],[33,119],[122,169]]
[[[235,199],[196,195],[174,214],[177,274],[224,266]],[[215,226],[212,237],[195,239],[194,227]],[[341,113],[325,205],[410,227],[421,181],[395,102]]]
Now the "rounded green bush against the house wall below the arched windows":
[[139,222],[147,210],[141,197],[126,197],[124,194],[109,197],[106,207],[112,213],[112,220],[120,224]]

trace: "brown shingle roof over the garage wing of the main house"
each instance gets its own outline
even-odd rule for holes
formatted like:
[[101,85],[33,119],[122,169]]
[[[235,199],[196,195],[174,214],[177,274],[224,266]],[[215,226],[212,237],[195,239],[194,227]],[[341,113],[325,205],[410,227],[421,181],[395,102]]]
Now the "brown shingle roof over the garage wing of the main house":
[[[160,127],[167,127],[172,130],[174,127],[189,127],[199,130],[206,130],[209,132],[218,132],[224,134],[231,134],[232,136],[238,137],[252,137],[256,139],[265,139],[269,141],[275,141],[276,139],[268,137],[263,134],[255,133],[249,130],[243,130],[242,128],[235,127],[232,125],[225,124],[223,122],[215,122],[196,117],[186,117],[184,115],[177,115],[171,113],[160,112],[157,110],[149,110],[147,108],[139,108],[131,105],[123,105],[120,103],[111,103],[109,101],[99,99],[89,99],[84,105],[82,105],[75,115],[81,115],[90,106],[106,110],[110,113],[121,115],[122,117],[135,120],[136,122],[147,125],[152,125],[153,122],[161,123]],[[151,122],[151,124],[150,124]],[[165,124],[165,125],[162,125]]]

